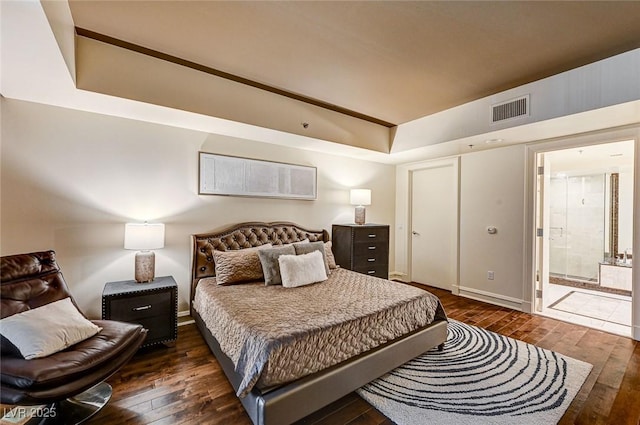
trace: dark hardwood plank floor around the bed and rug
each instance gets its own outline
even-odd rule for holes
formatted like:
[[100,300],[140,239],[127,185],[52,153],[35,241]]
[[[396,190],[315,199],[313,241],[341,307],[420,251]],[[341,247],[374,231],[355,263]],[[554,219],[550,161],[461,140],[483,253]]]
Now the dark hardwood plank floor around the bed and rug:
[[[640,424],[640,343],[427,289],[452,319],[593,364],[561,424]],[[141,351],[108,382],[113,398],[91,424],[251,423],[195,325],[180,327],[174,347]],[[299,424],[392,422],[352,393]]]

